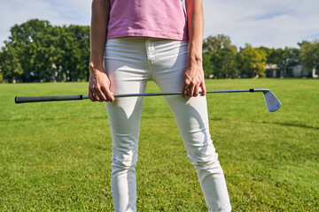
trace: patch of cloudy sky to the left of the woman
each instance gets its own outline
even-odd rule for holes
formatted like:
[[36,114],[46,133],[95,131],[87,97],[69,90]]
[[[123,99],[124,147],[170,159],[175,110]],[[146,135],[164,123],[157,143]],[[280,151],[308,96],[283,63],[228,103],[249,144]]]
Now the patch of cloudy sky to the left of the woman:
[[10,0],[0,3],[0,46],[8,40],[10,27],[29,19],[49,20],[52,25],[89,25],[88,0]]

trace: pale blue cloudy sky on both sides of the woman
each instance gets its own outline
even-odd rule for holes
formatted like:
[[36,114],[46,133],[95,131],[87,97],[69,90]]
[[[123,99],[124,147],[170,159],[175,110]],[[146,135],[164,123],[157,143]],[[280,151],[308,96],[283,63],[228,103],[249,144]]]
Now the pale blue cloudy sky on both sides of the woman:
[[[152,0],[149,0],[152,1]],[[89,25],[91,0],[0,0],[0,47],[10,27],[28,19],[52,25]],[[205,29],[237,47],[298,47],[319,39],[319,0],[203,0]]]

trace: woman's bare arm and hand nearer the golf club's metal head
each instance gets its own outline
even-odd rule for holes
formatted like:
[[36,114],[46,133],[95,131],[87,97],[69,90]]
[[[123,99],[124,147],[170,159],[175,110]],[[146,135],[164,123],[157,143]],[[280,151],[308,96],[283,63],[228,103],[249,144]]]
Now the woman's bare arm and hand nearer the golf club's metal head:
[[204,14],[202,0],[186,0],[188,32],[190,36],[187,65],[183,76],[183,97],[206,95],[202,64]]

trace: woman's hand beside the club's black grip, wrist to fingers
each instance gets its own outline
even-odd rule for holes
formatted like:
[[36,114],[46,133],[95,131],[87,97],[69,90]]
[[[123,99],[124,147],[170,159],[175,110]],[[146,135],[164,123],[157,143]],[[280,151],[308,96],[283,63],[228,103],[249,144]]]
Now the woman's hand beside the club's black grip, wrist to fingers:
[[110,85],[110,79],[103,70],[89,67],[89,99],[92,102],[113,102],[115,98]]

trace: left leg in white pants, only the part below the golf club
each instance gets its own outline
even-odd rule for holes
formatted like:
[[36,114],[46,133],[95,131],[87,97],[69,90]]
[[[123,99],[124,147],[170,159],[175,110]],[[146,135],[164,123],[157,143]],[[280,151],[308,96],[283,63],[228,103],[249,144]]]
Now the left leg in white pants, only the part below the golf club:
[[136,163],[142,104],[143,97],[106,103],[112,133],[113,206],[119,212],[136,211]]

